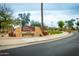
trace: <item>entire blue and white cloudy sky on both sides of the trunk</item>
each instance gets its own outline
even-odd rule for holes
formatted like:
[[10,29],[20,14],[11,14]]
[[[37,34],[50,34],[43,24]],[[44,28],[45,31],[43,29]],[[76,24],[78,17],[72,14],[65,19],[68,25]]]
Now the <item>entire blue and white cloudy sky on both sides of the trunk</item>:
[[[31,13],[30,19],[41,22],[40,3],[9,3],[14,17],[19,13]],[[44,23],[57,26],[59,20],[69,20],[79,17],[78,3],[44,3]],[[51,24],[53,22],[53,24]]]

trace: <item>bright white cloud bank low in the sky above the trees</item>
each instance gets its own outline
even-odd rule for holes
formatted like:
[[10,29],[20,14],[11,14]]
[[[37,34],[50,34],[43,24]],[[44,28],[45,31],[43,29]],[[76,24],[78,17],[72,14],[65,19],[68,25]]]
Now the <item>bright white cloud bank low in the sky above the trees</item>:
[[[77,18],[79,15],[77,14],[68,14],[70,10],[64,11],[50,11],[44,10],[44,23],[48,26],[51,26],[51,22],[53,22],[53,26],[57,26],[57,21],[59,20],[69,20],[71,18]],[[41,22],[41,14],[40,11],[23,11],[14,13],[15,17],[18,17],[19,13],[31,13],[30,19]]]

